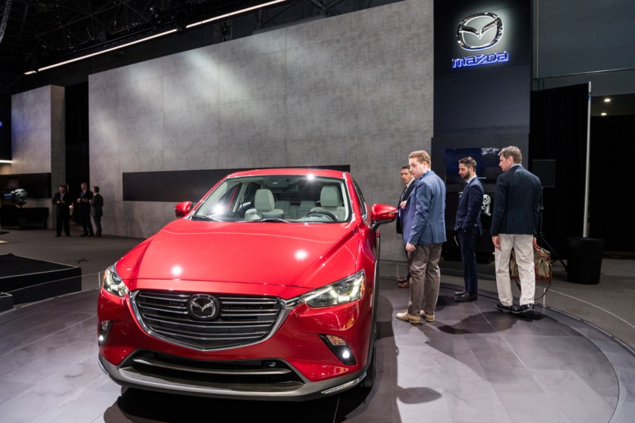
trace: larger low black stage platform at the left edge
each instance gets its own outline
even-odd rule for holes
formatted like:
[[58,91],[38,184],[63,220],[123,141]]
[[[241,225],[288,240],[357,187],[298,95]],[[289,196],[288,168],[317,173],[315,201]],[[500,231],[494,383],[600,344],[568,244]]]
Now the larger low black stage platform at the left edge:
[[82,269],[13,254],[0,255],[0,311],[82,290]]

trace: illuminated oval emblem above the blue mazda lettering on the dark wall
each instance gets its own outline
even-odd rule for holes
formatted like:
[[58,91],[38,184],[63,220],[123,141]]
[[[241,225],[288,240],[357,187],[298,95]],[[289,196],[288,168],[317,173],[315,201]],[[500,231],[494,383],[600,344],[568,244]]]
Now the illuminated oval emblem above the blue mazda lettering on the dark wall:
[[484,50],[493,47],[503,37],[503,21],[493,13],[476,13],[458,24],[456,40],[465,50]]

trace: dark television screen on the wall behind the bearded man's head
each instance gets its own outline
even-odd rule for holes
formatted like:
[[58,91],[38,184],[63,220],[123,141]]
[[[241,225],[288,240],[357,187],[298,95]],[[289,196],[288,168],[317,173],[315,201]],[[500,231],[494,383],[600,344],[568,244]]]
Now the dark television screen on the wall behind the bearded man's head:
[[477,177],[482,184],[496,184],[496,178],[503,172],[498,166],[498,147],[470,149],[446,149],[446,184],[464,184],[458,174],[458,160],[471,157],[477,162]]

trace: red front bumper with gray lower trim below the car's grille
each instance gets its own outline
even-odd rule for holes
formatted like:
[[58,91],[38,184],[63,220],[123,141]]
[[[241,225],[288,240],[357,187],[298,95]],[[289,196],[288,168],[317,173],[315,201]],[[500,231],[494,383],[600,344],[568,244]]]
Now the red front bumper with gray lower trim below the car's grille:
[[[99,348],[102,369],[123,386],[219,398],[307,400],[356,386],[365,377],[372,296],[333,308],[301,304],[266,341],[197,351],[158,339],[133,317],[127,298],[101,291],[99,322],[111,322]],[[355,365],[345,365],[320,335],[346,339]]]

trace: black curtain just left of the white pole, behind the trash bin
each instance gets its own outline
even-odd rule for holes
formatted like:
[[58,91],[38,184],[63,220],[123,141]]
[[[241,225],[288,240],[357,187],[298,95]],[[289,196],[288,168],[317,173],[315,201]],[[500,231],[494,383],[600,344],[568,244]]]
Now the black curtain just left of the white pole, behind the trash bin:
[[[567,258],[567,238],[583,234],[588,91],[580,84],[532,92],[529,157],[555,160],[555,185],[543,188],[541,246],[560,259]],[[533,170],[532,163],[525,167]]]

